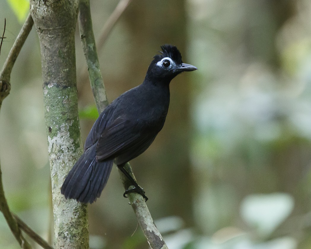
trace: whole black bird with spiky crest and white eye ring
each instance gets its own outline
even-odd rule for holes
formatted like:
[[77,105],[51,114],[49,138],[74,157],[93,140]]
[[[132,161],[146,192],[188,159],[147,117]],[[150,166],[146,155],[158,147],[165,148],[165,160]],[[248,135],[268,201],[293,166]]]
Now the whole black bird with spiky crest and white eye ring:
[[169,108],[169,83],[179,73],[197,70],[183,63],[173,45],[161,46],[141,85],[116,98],[95,121],[84,144],[84,153],[68,173],[61,193],[66,199],[92,203],[100,196],[109,178],[114,159],[132,182],[129,192],[145,191],[124,165],[143,153],[162,129]]

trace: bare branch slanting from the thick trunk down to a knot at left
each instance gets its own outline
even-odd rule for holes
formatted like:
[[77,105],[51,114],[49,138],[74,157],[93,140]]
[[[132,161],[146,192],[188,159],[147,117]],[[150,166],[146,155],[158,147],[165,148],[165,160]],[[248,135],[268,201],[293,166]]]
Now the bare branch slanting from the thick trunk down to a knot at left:
[[22,46],[25,43],[25,40],[26,40],[33,24],[34,24],[34,21],[32,20],[32,17],[29,14],[26,18],[24,25],[21,28],[20,33],[18,34],[18,36],[14,42],[8,56],[7,56],[6,61],[3,64],[3,67],[2,67],[1,72],[0,72],[0,81],[10,82],[10,77],[11,77],[13,65],[16,61],[18,54],[21,51]]

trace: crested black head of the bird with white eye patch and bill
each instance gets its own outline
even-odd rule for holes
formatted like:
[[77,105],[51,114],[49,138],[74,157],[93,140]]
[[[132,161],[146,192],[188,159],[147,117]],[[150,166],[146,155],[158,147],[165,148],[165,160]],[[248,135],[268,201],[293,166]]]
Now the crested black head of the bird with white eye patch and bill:
[[162,45],[161,54],[155,55],[151,62],[146,78],[153,81],[170,82],[179,73],[194,71],[197,68],[193,65],[183,63],[179,50],[173,45]]

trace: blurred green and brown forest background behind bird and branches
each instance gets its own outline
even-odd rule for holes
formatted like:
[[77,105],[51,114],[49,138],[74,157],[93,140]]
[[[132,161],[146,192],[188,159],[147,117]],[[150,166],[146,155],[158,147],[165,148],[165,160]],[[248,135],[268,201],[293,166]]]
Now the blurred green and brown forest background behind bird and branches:
[[[2,67],[28,10],[0,0]],[[95,38],[117,1],[91,1]],[[199,70],[171,84],[163,130],[131,165],[173,249],[311,248],[311,2],[133,0],[98,51],[109,102],[140,84],[160,45]],[[81,113],[94,106],[76,35]],[[1,108],[10,208],[51,241],[39,41],[32,29]],[[82,140],[94,119],[81,116]],[[89,206],[91,248],[148,248],[116,168]],[[0,248],[19,248],[0,214]],[[133,235],[132,235],[133,234]],[[39,248],[39,247],[35,247]]]

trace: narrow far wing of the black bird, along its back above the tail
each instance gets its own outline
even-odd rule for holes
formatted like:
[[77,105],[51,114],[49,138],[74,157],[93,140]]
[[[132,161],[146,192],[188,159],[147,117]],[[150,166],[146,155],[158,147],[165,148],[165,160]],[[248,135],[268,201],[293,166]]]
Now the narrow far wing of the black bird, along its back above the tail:
[[115,109],[115,105],[110,104],[105,108],[105,110],[99,115],[98,119],[95,121],[90,133],[88,134],[85,144],[84,151],[94,145],[98,139],[100,138],[101,133],[107,126],[113,112]]

